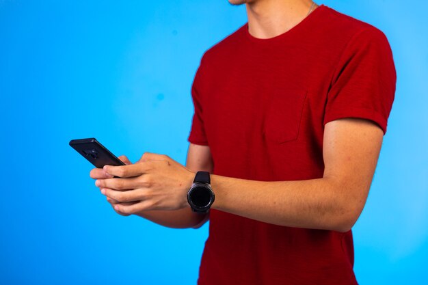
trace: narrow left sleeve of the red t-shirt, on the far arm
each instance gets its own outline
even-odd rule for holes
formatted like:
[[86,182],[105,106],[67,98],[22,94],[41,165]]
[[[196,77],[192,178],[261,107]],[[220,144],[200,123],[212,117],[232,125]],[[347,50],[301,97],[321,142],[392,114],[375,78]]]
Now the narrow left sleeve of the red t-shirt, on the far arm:
[[204,57],[202,57],[201,59],[198,70],[196,70],[195,78],[193,79],[193,84],[191,86],[191,98],[193,100],[193,107],[195,109],[195,112],[193,113],[191,130],[189,133],[189,137],[187,138],[187,141],[191,142],[192,144],[200,144],[203,146],[208,146],[208,141],[206,139],[205,128],[204,128],[202,102],[200,98],[200,95],[201,95],[200,94],[201,93],[200,77],[202,73],[203,58]]

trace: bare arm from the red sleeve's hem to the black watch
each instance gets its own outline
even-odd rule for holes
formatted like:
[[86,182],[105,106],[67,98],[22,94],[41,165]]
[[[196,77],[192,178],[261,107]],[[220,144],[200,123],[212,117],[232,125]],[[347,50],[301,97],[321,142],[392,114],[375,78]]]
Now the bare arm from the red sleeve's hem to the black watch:
[[323,178],[264,182],[212,175],[212,207],[280,226],[346,232],[366,202],[383,135],[369,120],[328,122]]

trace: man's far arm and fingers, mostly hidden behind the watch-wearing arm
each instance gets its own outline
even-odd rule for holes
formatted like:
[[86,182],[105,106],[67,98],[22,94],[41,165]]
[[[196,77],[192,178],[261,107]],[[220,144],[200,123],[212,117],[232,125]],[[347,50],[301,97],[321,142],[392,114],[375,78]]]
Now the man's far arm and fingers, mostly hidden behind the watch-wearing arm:
[[[122,159],[122,161],[127,161],[126,157],[120,157],[120,159]],[[191,172],[198,172],[199,170],[210,173],[213,172],[213,159],[211,157],[209,146],[190,144],[189,150],[187,151],[186,167]],[[105,178],[105,174],[102,172],[104,172],[104,169],[92,169],[91,177],[98,178],[98,176],[101,176],[102,178]],[[118,201],[109,198],[108,196],[107,201],[111,206],[113,206],[113,208],[118,204]],[[117,210],[116,212],[120,215],[129,215],[128,213],[122,213]],[[209,219],[209,214],[203,215],[193,213],[191,208],[181,208],[174,211],[139,211],[133,214],[169,228],[200,228],[200,226]]]

